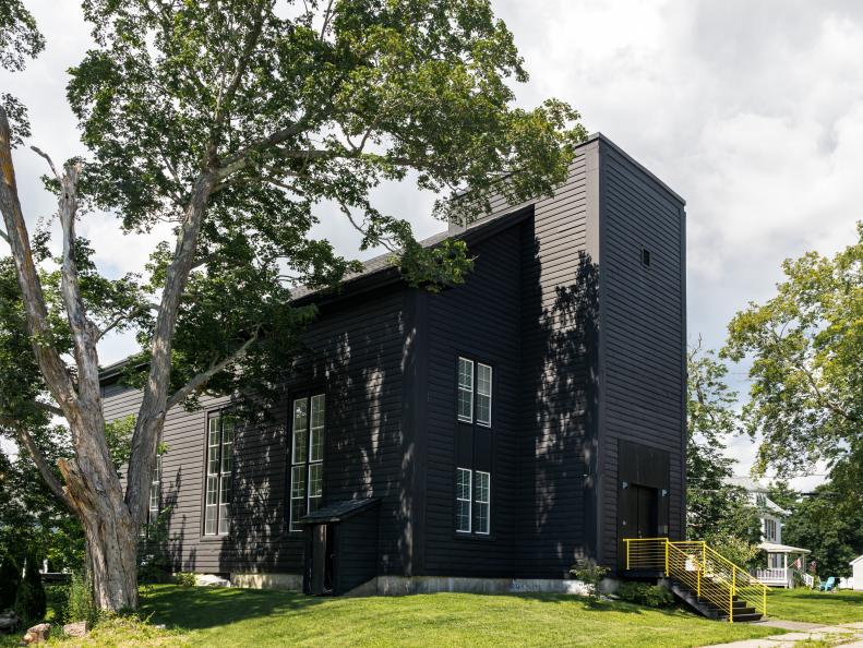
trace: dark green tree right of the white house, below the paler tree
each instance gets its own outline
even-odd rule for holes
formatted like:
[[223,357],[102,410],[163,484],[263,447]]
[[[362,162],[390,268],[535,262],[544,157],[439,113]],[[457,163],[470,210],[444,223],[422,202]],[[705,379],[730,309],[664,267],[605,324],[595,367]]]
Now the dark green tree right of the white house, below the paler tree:
[[863,507],[834,482],[819,485],[791,507],[782,541],[812,551],[818,575],[850,576],[848,564],[863,554]]

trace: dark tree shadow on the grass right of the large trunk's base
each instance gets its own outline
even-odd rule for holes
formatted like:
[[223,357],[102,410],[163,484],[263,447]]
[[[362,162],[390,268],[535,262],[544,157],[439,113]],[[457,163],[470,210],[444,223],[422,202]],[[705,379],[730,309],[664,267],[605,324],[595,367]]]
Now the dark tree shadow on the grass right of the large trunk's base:
[[168,627],[202,629],[252,617],[301,612],[325,600],[291,591],[206,587],[154,587],[141,611]]

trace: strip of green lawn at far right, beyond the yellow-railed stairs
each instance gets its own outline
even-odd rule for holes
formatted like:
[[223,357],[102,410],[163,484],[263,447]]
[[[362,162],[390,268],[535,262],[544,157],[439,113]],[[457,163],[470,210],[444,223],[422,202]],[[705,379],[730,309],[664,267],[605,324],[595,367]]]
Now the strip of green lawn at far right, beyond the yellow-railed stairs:
[[812,591],[775,589],[767,599],[772,619],[838,624],[863,621],[863,591]]

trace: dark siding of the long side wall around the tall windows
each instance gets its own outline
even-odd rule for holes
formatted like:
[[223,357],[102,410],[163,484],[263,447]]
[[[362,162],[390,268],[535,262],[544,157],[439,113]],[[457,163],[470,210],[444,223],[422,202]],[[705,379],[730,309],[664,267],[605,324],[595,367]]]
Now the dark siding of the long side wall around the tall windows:
[[[362,302],[322,310],[304,335],[309,353],[267,422],[240,425],[235,441],[232,524],[226,537],[203,536],[207,411],[227,398],[202,399],[202,410],[171,410],[165,424],[163,507],[171,506],[169,538],[178,568],[204,573],[300,574],[302,533],[288,532],[289,403],[299,391],[326,394],[324,504],[377,496],[382,573],[400,573],[409,543],[409,502],[401,468],[401,364],[408,291],[389,288]],[[106,385],[106,417],[135,415],[140,393]]]

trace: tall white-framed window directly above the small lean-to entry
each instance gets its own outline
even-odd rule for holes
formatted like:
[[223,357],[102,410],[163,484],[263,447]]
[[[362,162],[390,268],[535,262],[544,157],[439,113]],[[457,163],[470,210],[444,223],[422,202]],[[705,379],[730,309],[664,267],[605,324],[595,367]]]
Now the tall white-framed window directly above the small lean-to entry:
[[321,507],[324,494],[324,395],[293,400],[291,424],[290,530],[301,531],[299,519]]

